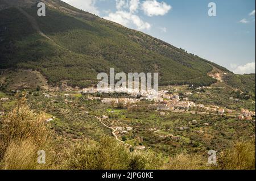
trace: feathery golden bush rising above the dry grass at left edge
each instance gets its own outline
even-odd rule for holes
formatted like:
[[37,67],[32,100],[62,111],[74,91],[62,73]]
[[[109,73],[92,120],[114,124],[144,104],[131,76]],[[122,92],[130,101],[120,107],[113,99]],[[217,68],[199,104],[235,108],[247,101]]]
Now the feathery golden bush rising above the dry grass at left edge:
[[26,99],[19,100],[13,111],[3,117],[1,142],[8,146],[13,140],[32,138],[39,144],[45,142],[49,136],[46,116],[36,114],[26,104]]

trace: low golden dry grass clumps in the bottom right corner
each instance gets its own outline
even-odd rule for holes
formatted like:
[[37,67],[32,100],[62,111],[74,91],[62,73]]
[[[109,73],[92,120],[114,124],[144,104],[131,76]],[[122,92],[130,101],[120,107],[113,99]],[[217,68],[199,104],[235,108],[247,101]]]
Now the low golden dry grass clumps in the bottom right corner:
[[167,170],[254,170],[255,140],[236,141],[231,148],[217,155],[217,165],[208,165],[207,159],[198,154],[179,154],[163,166]]

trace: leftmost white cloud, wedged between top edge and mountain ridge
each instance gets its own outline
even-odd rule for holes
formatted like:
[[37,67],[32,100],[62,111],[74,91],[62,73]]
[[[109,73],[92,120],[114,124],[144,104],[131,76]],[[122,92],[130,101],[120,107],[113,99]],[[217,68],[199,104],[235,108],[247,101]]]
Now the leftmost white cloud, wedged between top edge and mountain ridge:
[[76,7],[77,9],[88,11],[92,14],[100,15],[95,6],[96,0],[61,0],[67,2],[69,5]]

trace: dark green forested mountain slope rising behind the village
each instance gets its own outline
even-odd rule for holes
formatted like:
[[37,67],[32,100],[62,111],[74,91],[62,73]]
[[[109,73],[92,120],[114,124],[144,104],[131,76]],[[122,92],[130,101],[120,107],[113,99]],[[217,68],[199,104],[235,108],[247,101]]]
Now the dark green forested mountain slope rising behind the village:
[[36,2],[0,0],[0,69],[38,70],[49,83],[67,80],[80,87],[96,81],[97,73],[108,73],[109,68],[125,73],[159,72],[160,85],[210,85],[216,82],[207,75],[213,66],[229,72],[59,0],[43,1],[47,14],[39,17]]

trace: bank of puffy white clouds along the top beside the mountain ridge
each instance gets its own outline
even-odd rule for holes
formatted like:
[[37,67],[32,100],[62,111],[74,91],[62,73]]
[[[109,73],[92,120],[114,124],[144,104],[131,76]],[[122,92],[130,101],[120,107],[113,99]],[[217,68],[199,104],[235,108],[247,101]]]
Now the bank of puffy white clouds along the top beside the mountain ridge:
[[[92,14],[100,15],[100,11],[96,7],[96,1],[104,0],[62,0],[69,5],[75,6],[78,9],[88,11]],[[165,2],[158,2],[156,0],[115,0],[115,7],[117,11],[103,11],[108,14],[105,19],[112,20],[113,22],[122,24],[130,28],[137,28],[137,30],[149,30],[151,24],[144,22],[138,15],[138,11],[144,11],[148,16],[158,16],[166,14],[171,6]],[[162,29],[166,32],[166,29]]]

